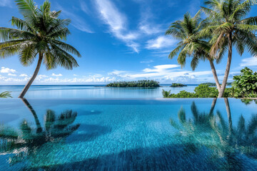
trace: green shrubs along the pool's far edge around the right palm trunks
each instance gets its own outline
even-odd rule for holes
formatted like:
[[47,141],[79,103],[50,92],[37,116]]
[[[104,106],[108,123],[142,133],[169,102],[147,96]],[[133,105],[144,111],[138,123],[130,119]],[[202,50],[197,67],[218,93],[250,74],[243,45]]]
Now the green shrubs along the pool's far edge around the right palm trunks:
[[[233,77],[232,88],[226,88],[223,94],[225,98],[257,98],[257,72],[249,68],[243,68],[240,76]],[[193,93],[182,90],[173,94],[171,90],[162,92],[163,98],[217,98],[218,89],[208,84],[200,84]]]

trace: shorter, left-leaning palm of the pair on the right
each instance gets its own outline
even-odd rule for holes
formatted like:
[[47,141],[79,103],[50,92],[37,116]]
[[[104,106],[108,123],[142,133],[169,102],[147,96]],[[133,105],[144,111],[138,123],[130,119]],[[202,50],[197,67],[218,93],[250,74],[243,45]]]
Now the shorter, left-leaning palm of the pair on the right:
[[198,11],[198,13],[193,17],[191,17],[189,13],[186,13],[183,16],[182,21],[175,21],[171,26],[169,26],[166,31],[166,35],[171,35],[180,40],[180,42],[177,44],[177,47],[171,51],[168,58],[172,59],[180,51],[178,54],[178,63],[181,64],[181,66],[185,66],[186,56],[191,56],[193,54],[193,59],[191,61],[191,68],[193,71],[198,65],[199,60],[205,61],[207,59],[211,65],[211,71],[213,73],[216,86],[218,90],[220,90],[220,84],[218,83],[218,76],[213,64],[213,58],[208,53],[211,48],[210,43],[206,41],[206,37],[201,38],[198,36],[199,31],[208,24],[208,20],[201,20],[200,15],[201,11]]

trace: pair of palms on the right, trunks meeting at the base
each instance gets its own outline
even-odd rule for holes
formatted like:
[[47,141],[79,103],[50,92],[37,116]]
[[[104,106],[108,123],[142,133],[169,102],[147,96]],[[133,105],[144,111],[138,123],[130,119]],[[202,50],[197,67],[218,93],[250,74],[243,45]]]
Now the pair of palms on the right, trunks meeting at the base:
[[[246,18],[257,1],[207,0],[204,4],[206,7],[201,7],[201,11],[206,14],[206,19],[200,18],[200,11],[194,17],[187,13],[182,21],[175,21],[168,28],[166,34],[181,40],[168,57],[173,58],[180,52],[178,63],[184,66],[186,56],[193,56],[191,61],[193,69],[200,59],[203,61],[208,59],[219,91],[218,97],[221,98],[228,81],[233,46],[240,55],[246,50],[253,56],[257,55],[257,16]],[[228,61],[220,86],[213,59],[215,58],[217,63],[221,62],[226,51],[228,51]]]

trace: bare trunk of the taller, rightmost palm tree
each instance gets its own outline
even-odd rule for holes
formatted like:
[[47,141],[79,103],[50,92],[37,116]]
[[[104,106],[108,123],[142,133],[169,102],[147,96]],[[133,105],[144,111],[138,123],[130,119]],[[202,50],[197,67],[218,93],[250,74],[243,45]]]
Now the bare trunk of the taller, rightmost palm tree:
[[232,33],[229,33],[229,35],[228,35],[228,61],[227,61],[227,65],[226,65],[226,71],[225,71],[225,75],[223,78],[223,82],[221,85],[221,91],[218,93],[218,98],[223,97],[223,93],[225,91],[226,84],[228,81],[228,74],[229,74],[230,67],[231,67],[231,59],[232,59]]

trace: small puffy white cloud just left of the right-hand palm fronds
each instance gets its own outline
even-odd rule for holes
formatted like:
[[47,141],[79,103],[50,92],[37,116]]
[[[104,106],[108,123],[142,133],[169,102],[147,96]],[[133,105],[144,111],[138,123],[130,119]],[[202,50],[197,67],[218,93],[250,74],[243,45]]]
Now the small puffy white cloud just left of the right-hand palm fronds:
[[158,36],[156,39],[151,39],[147,41],[146,48],[148,49],[158,49],[174,46],[176,40],[170,36]]

